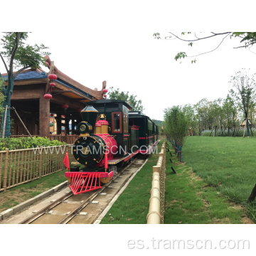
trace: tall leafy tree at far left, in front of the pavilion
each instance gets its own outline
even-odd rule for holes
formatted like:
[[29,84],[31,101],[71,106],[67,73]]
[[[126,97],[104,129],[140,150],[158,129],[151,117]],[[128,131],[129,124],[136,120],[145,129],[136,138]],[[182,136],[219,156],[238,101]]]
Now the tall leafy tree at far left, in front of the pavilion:
[[[4,63],[8,77],[8,84],[2,90],[4,95],[2,107],[6,107],[6,105],[11,107],[11,95],[14,90],[14,80],[16,76],[26,68],[39,68],[41,64],[46,65],[43,57],[50,54],[43,51],[48,49],[43,44],[41,44],[41,46],[37,44],[34,46],[26,44],[25,41],[27,38],[27,32],[6,32],[3,38],[1,38],[0,44],[3,50],[0,51],[0,58]],[[4,58],[6,58],[8,63],[6,63]],[[14,72],[14,68],[18,68],[18,71]],[[2,119],[4,119],[4,112]],[[1,134],[3,132],[3,126],[4,122],[2,122]],[[10,110],[8,109],[4,137],[10,137],[10,128]]]

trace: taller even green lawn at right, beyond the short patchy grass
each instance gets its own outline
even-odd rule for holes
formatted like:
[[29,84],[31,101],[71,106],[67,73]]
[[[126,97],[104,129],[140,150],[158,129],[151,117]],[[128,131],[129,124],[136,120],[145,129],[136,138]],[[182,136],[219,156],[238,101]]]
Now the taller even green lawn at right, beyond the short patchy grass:
[[244,204],[256,183],[255,149],[255,138],[188,137],[183,161],[230,201]]

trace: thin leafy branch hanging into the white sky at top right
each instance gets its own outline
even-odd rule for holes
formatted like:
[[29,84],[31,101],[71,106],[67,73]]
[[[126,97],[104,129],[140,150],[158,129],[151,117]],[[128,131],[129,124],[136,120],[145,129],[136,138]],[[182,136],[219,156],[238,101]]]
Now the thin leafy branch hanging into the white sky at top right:
[[[210,52],[213,52],[214,50],[216,50],[223,43],[225,38],[227,38],[228,36],[230,36],[230,38],[240,38],[241,39],[240,43],[243,43],[243,45],[235,47],[235,48],[250,48],[256,43],[256,32],[223,32],[223,33],[210,32],[210,34],[208,34],[206,36],[201,36],[201,37],[199,37],[198,34],[191,33],[191,32],[182,32],[181,36],[177,36],[176,34],[174,34],[172,32],[169,32],[169,33],[170,33],[170,36],[166,36],[165,40],[178,39],[181,41],[188,42],[188,46],[191,46],[191,47],[193,46],[194,42],[196,42],[196,41],[206,40],[206,39],[213,38],[213,37],[221,37],[221,41],[218,44],[218,46],[216,46],[212,50],[207,51],[206,53],[210,53]],[[154,33],[153,36],[156,39],[161,39],[160,33]],[[188,36],[189,38],[187,38],[187,37],[182,38],[184,36],[185,37]],[[180,53],[176,54],[174,59],[180,60],[182,58],[194,58],[199,55],[206,54],[206,53],[200,53],[198,55],[188,56],[186,54],[186,52],[180,52]],[[191,63],[196,63],[196,59],[191,60]]]

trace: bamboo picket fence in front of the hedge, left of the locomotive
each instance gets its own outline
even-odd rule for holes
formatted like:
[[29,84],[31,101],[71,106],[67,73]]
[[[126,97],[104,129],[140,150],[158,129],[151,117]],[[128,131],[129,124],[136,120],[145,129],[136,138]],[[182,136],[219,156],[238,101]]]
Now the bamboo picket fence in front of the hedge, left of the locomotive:
[[67,150],[74,161],[70,145],[0,151],[0,191],[62,171]]

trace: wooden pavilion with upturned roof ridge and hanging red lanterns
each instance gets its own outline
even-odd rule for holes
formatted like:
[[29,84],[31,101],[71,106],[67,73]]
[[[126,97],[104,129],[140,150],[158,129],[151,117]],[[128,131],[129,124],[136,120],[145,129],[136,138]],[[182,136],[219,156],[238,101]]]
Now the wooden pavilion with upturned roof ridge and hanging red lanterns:
[[[58,70],[48,56],[46,56],[46,64],[48,73],[39,68],[23,70],[17,75],[14,80],[11,107],[15,107],[32,135],[50,137],[50,118],[53,117],[57,134],[63,131],[65,135],[74,135],[75,127],[81,121],[80,111],[85,107],[85,102],[102,100],[105,94],[102,90],[106,87],[106,81],[102,82],[102,90],[92,90]],[[57,79],[49,80],[50,74],[57,75]],[[2,74],[2,77],[6,75]],[[50,84],[55,86],[51,87]],[[52,99],[46,100],[44,97],[46,94],[52,95]],[[11,111],[11,119],[14,120],[12,134],[28,134],[13,111]]]

